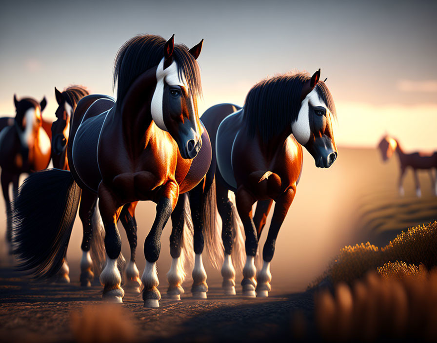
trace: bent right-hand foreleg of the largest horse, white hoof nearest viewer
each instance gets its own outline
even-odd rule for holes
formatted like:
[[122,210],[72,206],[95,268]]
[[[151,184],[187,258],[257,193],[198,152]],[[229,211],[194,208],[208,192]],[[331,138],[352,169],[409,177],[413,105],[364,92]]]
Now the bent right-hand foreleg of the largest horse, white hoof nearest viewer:
[[156,217],[153,222],[152,229],[144,242],[144,257],[146,258],[146,266],[141,276],[141,282],[144,285],[142,299],[144,307],[159,307],[161,294],[158,290],[159,280],[156,268],[156,261],[159,258],[161,250],[161,233],[168,218],[176,207],[179,197],[179,185],[174,181],[169,181],[163,186],[162,196],[159,198],[156,207]]

